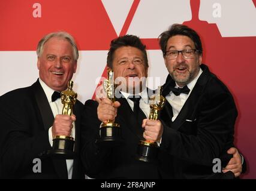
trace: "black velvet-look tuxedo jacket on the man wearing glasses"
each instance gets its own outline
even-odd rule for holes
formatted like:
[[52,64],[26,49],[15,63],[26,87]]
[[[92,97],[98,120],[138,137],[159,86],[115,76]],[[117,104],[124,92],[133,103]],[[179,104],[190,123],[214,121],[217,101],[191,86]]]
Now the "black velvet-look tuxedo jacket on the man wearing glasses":
[[[177,118],[166,102],[160,118],[164,126],[159,152],[162,178],[221,178],[213,173],[213,159],[222,167],[232,158],[237,109],[230,91],[201,64],[201,73]],[[167,96],[175,82],[170,75],[162,94]]]

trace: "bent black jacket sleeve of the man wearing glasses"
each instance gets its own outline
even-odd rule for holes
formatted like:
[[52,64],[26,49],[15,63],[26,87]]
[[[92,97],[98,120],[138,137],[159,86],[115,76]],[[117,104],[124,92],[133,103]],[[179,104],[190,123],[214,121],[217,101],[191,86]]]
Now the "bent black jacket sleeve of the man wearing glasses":
[[[179,130],[163,123],[161,149],[170,155],[194,164],[211,166],[214,158],[222,155],[222,150],[233,146],[236,106],[230,93],[223,92],[203,95],[195,111],[194,122],[185,121]],[[191,123],[189,126],[188,123]],[[184,128],[195,133],[186,133]],[[181,131],[183,129],[184,131]]]

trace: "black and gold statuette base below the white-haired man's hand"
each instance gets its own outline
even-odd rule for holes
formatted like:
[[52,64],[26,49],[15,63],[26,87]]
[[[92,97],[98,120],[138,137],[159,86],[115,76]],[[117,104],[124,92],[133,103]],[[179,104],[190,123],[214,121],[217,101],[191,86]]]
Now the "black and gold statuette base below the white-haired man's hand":
[[47,154],[52,158],[74,159],[74,138],[70,136],[56,136],[53,139],[53,148]]

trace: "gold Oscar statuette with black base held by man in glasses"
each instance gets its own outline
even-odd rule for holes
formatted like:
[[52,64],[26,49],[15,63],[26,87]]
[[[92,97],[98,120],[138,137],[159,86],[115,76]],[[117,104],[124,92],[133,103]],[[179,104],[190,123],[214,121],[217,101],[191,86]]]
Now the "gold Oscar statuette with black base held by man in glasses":
[[[165,104],[162,94],[162,86],[158,87],[156,94],[149,98],[150,114],[149,119],[157,120],[159,112]],[[140,140],[137,149],[137,159],[143,162],[154,162],[158,154],[158,144],[150,140]]]

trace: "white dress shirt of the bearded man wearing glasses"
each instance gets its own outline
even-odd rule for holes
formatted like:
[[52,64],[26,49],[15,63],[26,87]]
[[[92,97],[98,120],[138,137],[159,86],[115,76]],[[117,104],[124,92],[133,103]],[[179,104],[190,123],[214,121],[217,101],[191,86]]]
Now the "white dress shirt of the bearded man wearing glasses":
[[[191,94],[191,91],[193,90],[195,83],[197,82],[197,79],[199,78],[201,73],[203,73],[203,70],[200,68],[198,75],[191,82],[189,82],[189,84],[187,84],[187,86],[190,90],[189,94],[181,93],[179,96],[176,96],[175,94],[173,94],[172,91],[170,91],[170,93],[165,97],[173,109],[173,118],[171,118],[172,122],[179,115],[180,110],[182,109],[183,105],[185,104],[186,100],[188,99],[189,95]],[[180,88],[179,85],[177,85],[177,83],[176,83],[175,88]]]

